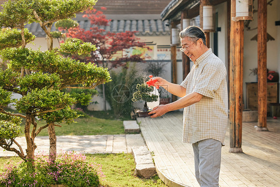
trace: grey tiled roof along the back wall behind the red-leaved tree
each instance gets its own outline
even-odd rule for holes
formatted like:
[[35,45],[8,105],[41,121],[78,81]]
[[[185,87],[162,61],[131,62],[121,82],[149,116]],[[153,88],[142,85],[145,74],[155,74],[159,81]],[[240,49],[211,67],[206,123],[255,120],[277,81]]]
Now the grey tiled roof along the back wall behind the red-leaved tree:
[[[159,16],[154,18],[151,16],[150,19],[147,18],[147,16],[142,17],[143,19],[112,19],[108,26],[102,28],[110,32],[138,31],[136,33],[137,36],[160,36],[170,34],[169,27],[165,25],[168,23],[167,20],[162,21],[160,18],[157,18]],[[116,18],[118,17],[116,16]],[[93,26],[87,19],[78,19],[77,21],[80,27],[85,30],[89,30]],[[38,23],[27,24],[25,27],[37,37],[44,37],[46,35]],[[53,25],[51,31],[54,30],[56,29]]]

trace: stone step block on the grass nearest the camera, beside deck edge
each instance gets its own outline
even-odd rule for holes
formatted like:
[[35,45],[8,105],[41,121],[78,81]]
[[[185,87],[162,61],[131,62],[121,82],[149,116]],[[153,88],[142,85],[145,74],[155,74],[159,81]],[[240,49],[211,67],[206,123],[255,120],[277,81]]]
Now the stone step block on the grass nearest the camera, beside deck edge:
[[136,165],[135,173],[137,176],[147,179],[156,174],[151,153],[146,146],[133,147],[132,154]]

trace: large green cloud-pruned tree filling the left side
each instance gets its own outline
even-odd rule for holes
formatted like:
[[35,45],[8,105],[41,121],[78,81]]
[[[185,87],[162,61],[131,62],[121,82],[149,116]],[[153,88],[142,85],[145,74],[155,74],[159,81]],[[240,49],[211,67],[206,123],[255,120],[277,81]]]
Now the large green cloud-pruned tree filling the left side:
[[[44,128],[48,128],[50,139],[49,157],[55,160],[54,127],[61,127],[57,123],[62,121],[69,124],[79,117],[77,112],[71,110],[71,105],[78,102],[87,104],[91,99],[91,95],[64,93],[62,89],[93,89],[110,81],[106,68],[60,55],[61,52],[90,53],[96,49],[91,43],[65,42],[59,50],[52,50],[50,28],[53,22],[73,17],[75,13],[91,8],[95,3],[96,0],[8,0],[3,4],[0,26],[12,29],[0,32],[0,55],[3,60],[9,61],[8,68],[0,70],[0,146],[15,152],[25,162],[33,163],[36,149],[34,139]],[[25,48],[34,36],[24,29],[24,25],[32,21],[39,22],[46,32],[47,51]],[[11,99],[11,92],[22,97]],[[5,111],[8,104],[14,105],[21,114]],[[35,121],[37,116],[46,120],[47,124],[38,127]],[[19,134],[18,127],[22,118],[25,119],[26,155],[14,140]],[[13,143],[19,150],[11,147]]]

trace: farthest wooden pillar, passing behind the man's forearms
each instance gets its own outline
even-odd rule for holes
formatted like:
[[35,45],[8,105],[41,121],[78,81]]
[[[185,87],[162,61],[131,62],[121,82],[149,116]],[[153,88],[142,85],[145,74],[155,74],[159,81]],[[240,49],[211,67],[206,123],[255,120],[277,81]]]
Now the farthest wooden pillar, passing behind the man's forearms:
[[[172,28],[176,28],[174,21],[171,21],[171,69],[172,69],[172,83],[177,84],[177,59],[176,59],[176,44],[172,44]],[[177,100],[177,96],[172,95],[172,102]]]

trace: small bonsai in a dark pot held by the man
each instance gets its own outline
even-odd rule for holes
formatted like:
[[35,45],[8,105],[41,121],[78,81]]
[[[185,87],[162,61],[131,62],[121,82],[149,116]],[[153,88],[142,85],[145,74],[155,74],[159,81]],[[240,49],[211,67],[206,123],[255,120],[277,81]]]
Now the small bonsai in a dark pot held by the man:
[[137,84],[136,87],[137,91],[133,94],[132,100],[134,102],[137,101],[144,101],[144,107],[142,110],[138,110],[139,117],[147,117],[150,116],[148,113],[151,111],[148,106],[147,102],[154,102],[157,101],[158,96],[154,94],[150,94],[153,91],[153,86],[148,86],[147,84]]

